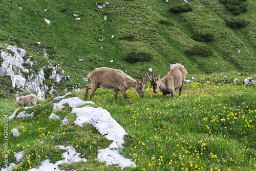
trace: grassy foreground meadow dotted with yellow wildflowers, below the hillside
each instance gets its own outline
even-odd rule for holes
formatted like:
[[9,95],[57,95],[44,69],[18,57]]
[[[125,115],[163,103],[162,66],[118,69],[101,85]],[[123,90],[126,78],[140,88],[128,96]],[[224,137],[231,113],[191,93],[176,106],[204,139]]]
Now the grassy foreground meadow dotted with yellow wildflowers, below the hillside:
[[[120,152],[137,167],[124,170],[255,170],[256,87],[244,86],[243,80],[248,76],[255,77],[236,72],[195,75],[193,83],[186,83],[183,94],[177,93],[175,98],[170,95],[164,98],[161,92],[154,94],[147,81],[144,97],[133,88],[127,90],[131,106],[121,93],[113,104],[113,91],[99,88],[93,102],[95,107],[108,110],[129,134]],[[234,78],[240,81],[234,83]],[[66,98],[71,96],[89,100],[84,98],[84,90]],[[9,116],[19,108],[11,98],[0,102],[4,115]],[[70,113],[68,106],[55,113],[62,119],[68,115],[68,126],[61,126],[59,120],[49,120],[52,103],[51,99],[40,101],[26,110],[34,111],[33,116],[8,122],[9,130],[16,128],[20,132],[19,137],[9,135],[9,162],[15,162],[12,156],[25,150],[26,157],[16,170],[36,167],[46,158],[51,162],[60,160],[63,152],[54,148],[60,144],[72,145],[88,159],[62,164],[62,169],[120,170],[96,161],[98,149],[108,147],[110,140],[90,125],[74,126],[75,114]],[[3,156],[3,149],[1,153]]]

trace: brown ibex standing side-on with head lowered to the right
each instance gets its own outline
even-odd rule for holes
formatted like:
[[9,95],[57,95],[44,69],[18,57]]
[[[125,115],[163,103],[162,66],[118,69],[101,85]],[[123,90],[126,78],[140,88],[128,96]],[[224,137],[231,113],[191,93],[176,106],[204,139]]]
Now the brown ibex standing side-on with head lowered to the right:
[[131,105],[130,99],[126,93],[126,90],[129,89],[129,87],[135,87],[138,94],[141,97],[144,96],[146,75],[144,79],[140,75],[141,82],[139,80],[136,82],[132,77],[124,74],[121,70],[101,67],[94,69],[88,77],[92,84],[86,86],[84,95],[88,96],[88,90],[91,89],[90,101],[92,100],[94,92],[99,87],[104,89],[114,89],[114,103],[117,100],[118,92],[121,91],[123,97]]

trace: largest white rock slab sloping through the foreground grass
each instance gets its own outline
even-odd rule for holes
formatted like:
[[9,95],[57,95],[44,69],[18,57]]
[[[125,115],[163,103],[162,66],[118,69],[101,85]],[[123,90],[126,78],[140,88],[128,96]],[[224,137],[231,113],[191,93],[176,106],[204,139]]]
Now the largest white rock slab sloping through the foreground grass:
[[75,125],[82,127],[83,123],[92,124],[101,135],[107,139],[113,140],[109,148],[122,148],[124,135],[126,131],[112,118],[110,112],[102,108],[93,108],[85,106],[74,108],[72,113],[76,113]]

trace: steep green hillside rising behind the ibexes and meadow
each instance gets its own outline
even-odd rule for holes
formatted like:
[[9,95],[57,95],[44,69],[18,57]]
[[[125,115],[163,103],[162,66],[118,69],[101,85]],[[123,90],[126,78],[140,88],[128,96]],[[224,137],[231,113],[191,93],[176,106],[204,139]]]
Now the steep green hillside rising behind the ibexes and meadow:
[[[170,63],[182,63],[188,74],[256,70],[255,1],[241,1],[247,11],[240,15],[217,0],[108,3],[3,0],[0,42],[24,48],[41,64],[59,64],[79,86],[101,66],[127,70],[132,77],[149,67],[163,76]],[[187,12],[175,11],[184,5]],[[226,19],[237,18],[246,26],[226,26]],[[45,52],[48,59],[42,58]],[[131,58],[138,62],[128,62]]]

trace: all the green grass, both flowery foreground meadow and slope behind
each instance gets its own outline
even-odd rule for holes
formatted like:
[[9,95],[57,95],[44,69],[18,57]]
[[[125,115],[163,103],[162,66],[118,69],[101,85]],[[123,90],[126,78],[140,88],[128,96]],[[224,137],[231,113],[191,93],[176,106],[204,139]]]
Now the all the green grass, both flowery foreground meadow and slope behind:
[[[12,87],[10,76],[0,76],[0,167],[6,154],[9,163],[18,164],[14,154],[23,150],[25,158],[14,170],[38,167],[46,159],[54,163],[63,153],[55,146],[72,145],[88,161],[62,164],[61,169],[120,170],[96,160],[97,151],[111,141],[91,125],[75,126],[69,106],[55,113],[68,116],[68,126],[49,120],[54,97],[75,87],[81,91],[66,98],[88,101],[83,88],[89,83],[83,78],[97,67],[120,69],[134,79],[153,68],[162,78],[169,64],[181,63],[186,79],[196,77],[183,86],[181,96],[154,94],[148,80],[144,97],[127,90],[131,106],[121,93],[113,104],[113,90],[95,92],[95,107],[108,110],[128,133],[120,153],[137,167],[124,170],[256,170],[256,87],[243,84],[247,77],[256,78],[256,1],[107,2],[0,2],[0,53],[8,45],[23,48],[25,58],[33,61],[24,67],[30,73],[44,69],[44,84],[56,90],[26,110],[33,116],[6,122],[20,108],[11,94],[30,92]],[[54,82],[50,65],[61,67],[69,79]],[[28,77],[23,71],[16,74]],[[13,128],[19,137],[10,134]]]

